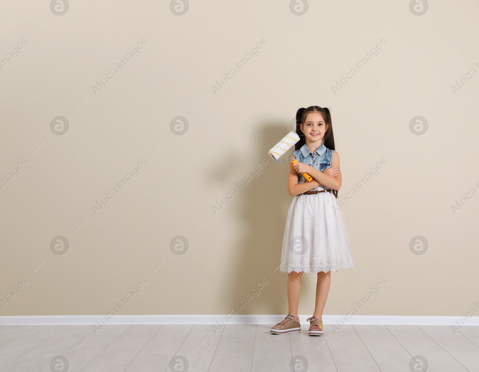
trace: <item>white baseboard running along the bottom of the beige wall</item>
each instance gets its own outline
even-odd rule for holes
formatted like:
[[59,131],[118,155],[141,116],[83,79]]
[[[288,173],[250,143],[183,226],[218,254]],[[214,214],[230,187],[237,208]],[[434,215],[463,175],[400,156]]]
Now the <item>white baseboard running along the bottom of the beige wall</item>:
[[[230,316],[231,317],[231,316]],[[111,319],[102,315],[51,315],[51,316],[0,316],[0,326],[5,325],[96,325],[101,321],[113,324],[265,324],[274,325],[285,315],[115,315]],[[307,324],[309,315],[300,315],[300,323]],[[399,316],[323,315],[323,324],[345,325],[416,325],[416,326],[479,326],[479,316]]]

